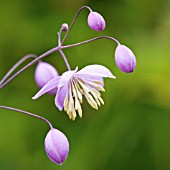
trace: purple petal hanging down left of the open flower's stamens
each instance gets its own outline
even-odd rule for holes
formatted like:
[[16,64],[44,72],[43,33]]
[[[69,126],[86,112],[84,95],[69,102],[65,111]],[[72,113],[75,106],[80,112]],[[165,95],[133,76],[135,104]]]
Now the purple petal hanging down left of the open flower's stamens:
[[68,95],[68,91],[69,91],[69,82],[67,82],[64,86],[59,87],[59,89],[57,90],[57,94],[55,97],[55,105],[58,107],[60,111],[63,110],[64,100]]

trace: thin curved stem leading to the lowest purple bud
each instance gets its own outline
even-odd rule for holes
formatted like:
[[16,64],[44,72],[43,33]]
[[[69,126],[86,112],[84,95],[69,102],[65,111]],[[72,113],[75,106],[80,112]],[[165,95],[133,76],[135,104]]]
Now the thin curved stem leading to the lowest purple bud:
[[2,109],[7,109],[7,110],[12,110],[12,111],[24,113],[24,114],[29,115],[29,116],[36,117],[36,118],[41,119],[41,120],[45,121],[46,123],[48,123],[48,125],[50,126],[51,129],[53,128],[52,124],[51,124],[47,119],[45,119],[44,117],[41,117],[41,116],[32,114],[32,113],[30,113],[30,112],[26,112],[26,111],[24,111],[24,110],[20,110],[20,109],[8,107],[8,106],[1,106],[1,105],[0,105],[0,108],[2,108]]

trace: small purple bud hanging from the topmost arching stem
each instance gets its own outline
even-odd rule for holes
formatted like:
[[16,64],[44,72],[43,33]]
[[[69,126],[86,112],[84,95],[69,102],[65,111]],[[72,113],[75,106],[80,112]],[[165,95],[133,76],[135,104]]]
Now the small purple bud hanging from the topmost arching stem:
[[88,25],[92,30],[102,31],[105,29],[106,23],[99,13],[91,11],[88,16]]

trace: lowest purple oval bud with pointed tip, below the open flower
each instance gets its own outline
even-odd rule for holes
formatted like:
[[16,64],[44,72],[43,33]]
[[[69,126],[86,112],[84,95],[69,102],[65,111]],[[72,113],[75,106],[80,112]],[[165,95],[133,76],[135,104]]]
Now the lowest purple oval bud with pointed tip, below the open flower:
[[62,165],[69,152],[67,137],[59,130],[51,129],[45,138],[45,151],[52,162]]

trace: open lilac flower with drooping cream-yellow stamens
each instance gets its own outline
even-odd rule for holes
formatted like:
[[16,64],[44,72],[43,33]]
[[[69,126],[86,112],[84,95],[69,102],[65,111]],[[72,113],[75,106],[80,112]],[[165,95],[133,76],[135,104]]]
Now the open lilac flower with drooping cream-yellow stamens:
[[78,68],[66,71],[62,76],[52,79],[33,99],[57,87],[55,105],[59,110],[64,108],[70,119],[75,120],[76,112],[82,117],[83,95],[93,108],[98,109],[101,103],[104,104],[99,92],[105,91],[102,77],[115,78],[115,76],[102,65],[89,65],[80,71],[77,70]]

